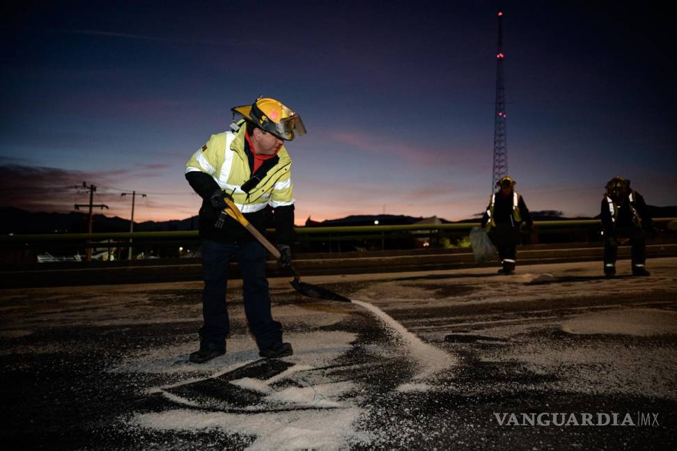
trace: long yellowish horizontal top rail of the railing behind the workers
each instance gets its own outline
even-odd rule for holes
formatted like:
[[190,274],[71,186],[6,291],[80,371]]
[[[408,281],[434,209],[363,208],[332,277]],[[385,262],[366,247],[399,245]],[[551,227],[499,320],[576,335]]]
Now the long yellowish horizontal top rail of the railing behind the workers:
[[[677,218],[656,218],[655,223],[677,221]],[[563,221],[534,221],[534,229],[541,228],[573,228],[582,225],[599,224],[598,219],[573,219]],[[361,232],[403,232],[417,230],[470,230],[479,227],[478,222],[449,223],[449,224],[407,224],[407,225],[343,225],[336,227],[297,227],[294,229],[298,235],[316,235],[333,233],[361,233]],[[274,231],[270,229],[270,231]],[[26,243],[26,242],[62,242],[62,241],[104,241],[109,239],[197,239],[197,230],[181,230],[174,232],[100,232],[100,233],[52,233],[40,235],[3,235],[0,236],[0,244]]]

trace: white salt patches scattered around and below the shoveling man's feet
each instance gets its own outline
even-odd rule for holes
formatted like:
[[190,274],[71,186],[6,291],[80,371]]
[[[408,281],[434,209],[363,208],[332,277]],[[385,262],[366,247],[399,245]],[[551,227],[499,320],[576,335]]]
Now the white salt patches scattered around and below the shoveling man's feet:
[[[349,381],[313,383],[313,379],[327,380],[322,377],[322,370],[318,368],[329,365],[348,351],[355,340],[355,334],[343,331],[313,331],[288,333],[286,339],[293,342],[295,354],[284,360],[295,365],[265,380],[242,377],[223,381],[224,384],[231,383],[265,395],[256,404],[244,407],[242,413],[208,413],[201,410],[205,407],[201,399],[187,399],[166,391],[166,388],[221,377],[251,363],[243,361],[242,357],[244,355],[251,357],[254,352],[249,351],[247,354],[244,351],[235,351],[233,353],[235,355],[231,354],[231,349],[241,350],[251,347],[250,338],[238,336],[228,340],[228,352],[223,358],[215,359],[219,360],[215,363],[217,367],[206,369],[209,374],[205,377],[191,378],[146,391],[146,393],[162,393],[166,399],[189,409],[138,414],[130,419],[130,426],[182,431],[217,428],[226,434],[256,436],[256,440],[248,448],[253,450],[300,448],[333,450],[349,448],[353,443],[369,443],[366,433],[357,432],[353,427],[353,422],[363,411],[352,402],[342,400],[346,394],[357,391],[355,384]],[[178,349],[182,349],[182,346],[175,348],[175,356]],[[153,372],[160,372],[164,367],[171,373],[173,364],[166,354],[171,353],[164,350],[156,354],[157,361],[148,359],[148,354],[145,354],[145,363],[141,363],[141,359],[137,357],[127,365],[116,368],[116,372],[127,370],[144,373],[150,368]],[[224,361],[228,362],[233,358],[234,361],[231,361],[230,365],[224,365]],[[196,367],[189,363],[185,365]],[[202,365],[199,368],[202,368]],[[277,383],[285,379],[293,385],[277,387]]]

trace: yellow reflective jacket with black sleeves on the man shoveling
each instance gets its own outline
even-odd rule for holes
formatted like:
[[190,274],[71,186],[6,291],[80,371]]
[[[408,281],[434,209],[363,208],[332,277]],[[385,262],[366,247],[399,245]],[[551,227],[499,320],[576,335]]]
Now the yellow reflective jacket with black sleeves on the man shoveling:
[[284,146],[252,173],[254,153],[240,121],[237,132],[214,134],[186,163],[186,179],[203,198],[200,209],[200,236],[221,242],[246,242],[253,239],[230,216],[223,228],[215,227],[219,214],[210,197],[217,189],[233,196],[235,205],[247,220],[263,232],[267,206],[274,209],[278,244],[291,244],[294,224],[294,197],[291,181],[292,160]]

